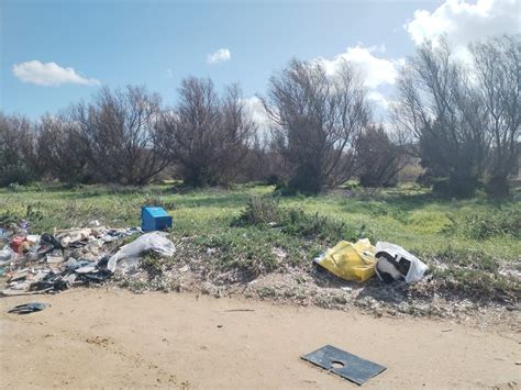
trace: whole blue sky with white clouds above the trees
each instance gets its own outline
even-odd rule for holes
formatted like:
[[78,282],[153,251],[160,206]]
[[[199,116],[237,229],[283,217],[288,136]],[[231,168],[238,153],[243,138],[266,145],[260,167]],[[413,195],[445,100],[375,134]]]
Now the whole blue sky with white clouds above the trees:
[[[340,59],[365,77],[377,108],[425,40],[468,42],[521,33],[521,0],[0,0],[0,111],[36,119],[102,86],[144,85],[175,104],[187,76],[257,96],[291,58]],[[378,111],[379,110],[379,111]]]

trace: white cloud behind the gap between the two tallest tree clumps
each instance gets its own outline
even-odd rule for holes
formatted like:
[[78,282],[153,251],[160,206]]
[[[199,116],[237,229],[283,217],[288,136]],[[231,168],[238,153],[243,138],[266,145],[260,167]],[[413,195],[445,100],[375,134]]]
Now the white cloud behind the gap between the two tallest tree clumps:
[[347,47],[345,53],[339,54],[333,59],[318,58],[325,67],[329,74],[337,71],[343,62],[347,62],[355,71],[364,79],[367,88],[374,89],[383,85],[395,83],[398,77],[398,66],[403,59],[386,59],[377,57],[374,54],[384,53],[385,45],[379,47],[363,47],[361,44],[354,47]]

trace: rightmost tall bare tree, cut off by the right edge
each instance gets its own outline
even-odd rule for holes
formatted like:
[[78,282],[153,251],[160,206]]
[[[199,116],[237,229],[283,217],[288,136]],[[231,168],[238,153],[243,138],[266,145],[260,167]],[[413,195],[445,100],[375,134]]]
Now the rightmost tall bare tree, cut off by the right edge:
[[509,192],[518,168],[521,134],[521,35],[503,35],[470,45],[477,90],[485,107],[481,122],[491,141],[489,190]]

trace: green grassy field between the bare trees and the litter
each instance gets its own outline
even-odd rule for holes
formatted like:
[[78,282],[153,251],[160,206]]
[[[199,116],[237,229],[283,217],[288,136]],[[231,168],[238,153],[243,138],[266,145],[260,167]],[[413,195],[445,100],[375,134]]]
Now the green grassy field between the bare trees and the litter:
[[174,261],[200,257],[210,268],[251,279],[287,267],[308,269],[339,239],[369,237],[424,259],[452,290],[519,296],[519,277],[499,272],[521,271],[519,201],[443,200],[418,187],[339,190],[310,198],[274,198],[273,191],[254,185],[184,193],[168,185],[11,187],[0,189],[0,223],[27,219],[34,233],[92,220],[135,226],[142,205],[158,204],[174,216],[171,235],[182,243]]

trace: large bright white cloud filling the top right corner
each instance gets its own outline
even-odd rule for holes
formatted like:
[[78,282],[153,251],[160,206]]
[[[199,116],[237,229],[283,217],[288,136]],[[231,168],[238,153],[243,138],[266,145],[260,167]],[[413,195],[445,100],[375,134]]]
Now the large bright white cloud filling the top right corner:
[[446,34],[457,49],[490,35],[520,33],[519,15],[519,0],[446,0],[433,12],[417,10],[403,27],[417,45],[436,44]]

